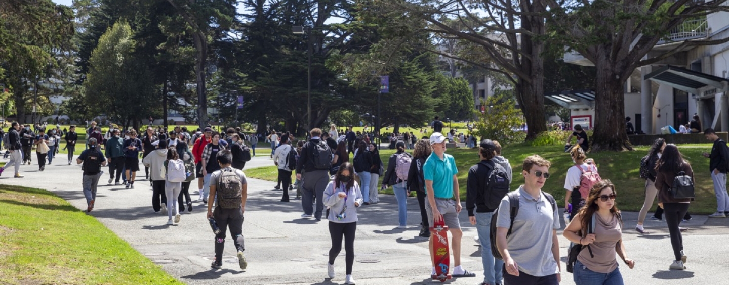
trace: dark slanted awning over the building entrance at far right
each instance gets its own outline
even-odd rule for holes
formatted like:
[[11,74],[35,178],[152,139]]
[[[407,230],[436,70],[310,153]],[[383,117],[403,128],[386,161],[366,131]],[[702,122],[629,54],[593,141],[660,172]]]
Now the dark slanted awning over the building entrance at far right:
[[644,80],[652,80],[660,84],[666,84],[675,89],[679,89],[694,95],[701,95],[705,89],[716,88],[717,92],[727,91],[729,80],[721,77],[701,73],[698,71],[690,71],[686,68],[679,68],[672,65],[666,65],[658,68],[657,71],[645,76]]

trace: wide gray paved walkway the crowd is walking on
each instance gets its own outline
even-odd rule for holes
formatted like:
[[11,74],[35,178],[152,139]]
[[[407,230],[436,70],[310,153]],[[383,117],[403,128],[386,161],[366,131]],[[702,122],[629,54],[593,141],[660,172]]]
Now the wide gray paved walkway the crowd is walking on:
[[[0,177],[0,184],[51,190],[79,209],[85,209],[80,166],[58,162],[46,166],[45,172],[37,172],[35,162],[22,166],[25,178],[12,179],[5,173]],[[246,168],[270,164],[268,156],[258,156]],[[144,169],[141,173],[144,174]],[[325,279],[330,247],[327,222],[300,219],[300,202],[279,202],[281,191],[273,190],[273,182],[249,180],[249,202],[243,225],[249,268],[243,273],[235,260],[230,238],[226,242],[224,268],[209,268],[214,241],[202,204],[195,203],[193,212],[182,214],[179,225],[168,226],[166,214],[152,212],[152,190],[148,182],[136,182],[135,189],[125,189],[106,185],[106,180],[105,175],[96,208],[90,214],[187,284],[343,284],[344,251],[335,264],[337,278],[331,282]],[[434,284],[428,276],[431,265],[426,239],[417,236],[420,216],[415,198],[408,201],[408,214],[410,228],[399,230],[395,227],[397,204],[393,196],[382,196],[381,203],[359,209],[354,263],[357,284]],[[729,219],[708,220],[706,216],[695,215],[694,220],[682,224],[690,228],[684,235],[689,270],[679,271],[668,270],[673,254],[665,222],[647,221],[647,229],[654,233],[638,236],[632,230],[636,213],[627,212],[623,217],[625,228],[629,229],[623,236],[625,246],[628,255],[636,260],[636,269],[623,267],[625,284],[724,284],[729,278],[725,258],[729,252],[726,238]],[[483,278],[483,271],[480,248],[473,240],[476,230],[467,223],[465,213],[461,213],[461,225],[465,233],[462,263],[478,276],[450,282],[477,284]],[[567,243],[564,238],[560,239],[564,256]],[[572,274],[565,272],[563,277],[562,284],[574,284]]]

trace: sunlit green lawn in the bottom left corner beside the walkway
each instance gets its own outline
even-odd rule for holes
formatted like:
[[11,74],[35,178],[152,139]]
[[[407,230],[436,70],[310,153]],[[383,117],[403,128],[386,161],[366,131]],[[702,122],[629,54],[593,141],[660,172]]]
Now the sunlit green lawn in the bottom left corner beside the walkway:
[[183,284],[41,189],[0,185],[0,284]]

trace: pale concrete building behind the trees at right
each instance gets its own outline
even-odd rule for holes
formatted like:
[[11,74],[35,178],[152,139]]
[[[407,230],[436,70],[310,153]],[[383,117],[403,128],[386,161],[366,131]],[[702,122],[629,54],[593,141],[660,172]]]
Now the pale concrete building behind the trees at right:
[[[715,12],[688,20],[675,28],[647,55],[655,57],[689,40],[729,38],[729,12]],[[564,55],[566,63],[593,66],[576,52]],[[634,71],[625,84],[625,116],[633,118],[637,131],[660,132],[661,127],[688,124],[694,114],[701,128],[729,131],[729,43],[686,47],[659,63]],[[594,118],[594,93],[585,90],[548,93],[547,98],[572,110],[578,121]],[[574,119],[572,120],[574,121]]]

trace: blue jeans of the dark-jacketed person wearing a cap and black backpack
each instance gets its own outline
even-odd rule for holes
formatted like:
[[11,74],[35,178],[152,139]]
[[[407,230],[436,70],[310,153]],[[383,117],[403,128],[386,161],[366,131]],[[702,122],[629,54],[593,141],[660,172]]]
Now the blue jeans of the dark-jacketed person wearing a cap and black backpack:
[[491,216],[494,212],[490,213],[475,213],[476,216],[476,230],[478,231],[478,242],[481,243],[481,262],[483,262],[483,283],[486,284],[504,284],[502,278],[502,268],[504,267],[503,260],[497,260],[494,255],[491,255],[491,237],[488,233],[491,231]]

